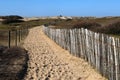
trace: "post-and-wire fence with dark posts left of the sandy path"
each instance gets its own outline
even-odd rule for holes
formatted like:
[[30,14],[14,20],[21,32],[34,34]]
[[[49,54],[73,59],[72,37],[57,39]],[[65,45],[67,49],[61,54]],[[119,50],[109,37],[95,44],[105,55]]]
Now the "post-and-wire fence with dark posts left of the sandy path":
[[28,29],[20,30],[0,30],[0,45],[18,46],[24,37],[28,34]]

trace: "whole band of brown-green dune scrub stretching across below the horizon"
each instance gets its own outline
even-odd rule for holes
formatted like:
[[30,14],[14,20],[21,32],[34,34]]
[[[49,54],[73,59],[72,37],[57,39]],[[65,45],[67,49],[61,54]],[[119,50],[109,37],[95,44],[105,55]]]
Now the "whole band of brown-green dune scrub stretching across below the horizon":
[[[21,20],[20,16],[6,16],[2,17],[3,19],[8,20],[7,24],[0,24],[0,29],[25,29],[31,28],[39,25],[52,25],[55,28],[87,28],[89,30],[112,34],[120,35],[120,17],[103,17],[103,18],[74,18],[74,19],[38,19],[30,21],[17,21]],[[9,23],[9,20],[13,20]],[[16,21],[15,21],[16,20]],[[5,22],[6,23],[6,22]]]

